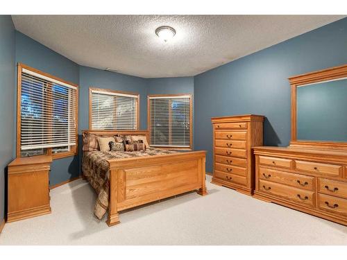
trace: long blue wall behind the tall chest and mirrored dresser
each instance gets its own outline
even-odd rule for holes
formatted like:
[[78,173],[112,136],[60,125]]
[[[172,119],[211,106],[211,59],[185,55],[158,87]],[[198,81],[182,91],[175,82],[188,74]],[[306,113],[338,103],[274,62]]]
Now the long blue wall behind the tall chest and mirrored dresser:
[[195,76],[194,143],[196,150],[208,150],[207,171],[212,171],[212,116],[263,114],[264,145],[287,146],[287,78],[346,62],[347,19],[342,19]]

